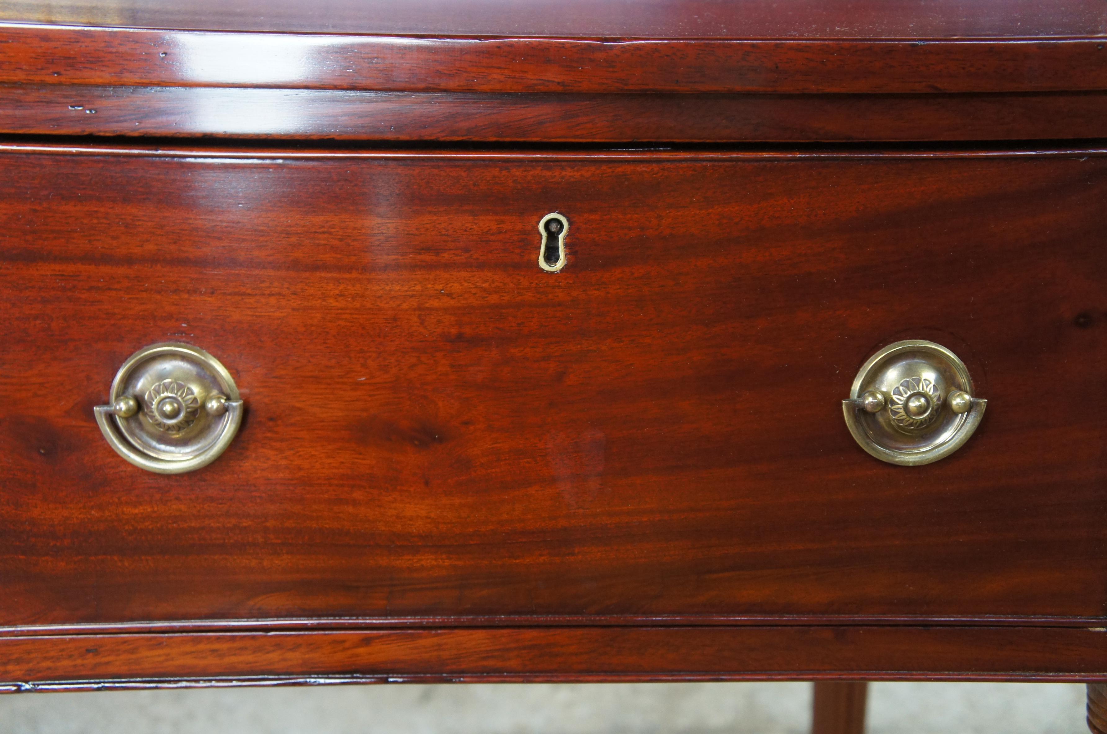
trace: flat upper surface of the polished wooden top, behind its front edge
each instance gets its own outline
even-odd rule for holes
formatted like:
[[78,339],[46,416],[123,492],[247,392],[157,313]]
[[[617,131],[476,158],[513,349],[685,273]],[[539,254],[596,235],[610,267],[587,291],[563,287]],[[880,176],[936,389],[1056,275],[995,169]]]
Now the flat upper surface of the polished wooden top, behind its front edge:
[[1074,36],[1096,0],[7,0],[0,19],[194,30],[591,38]]

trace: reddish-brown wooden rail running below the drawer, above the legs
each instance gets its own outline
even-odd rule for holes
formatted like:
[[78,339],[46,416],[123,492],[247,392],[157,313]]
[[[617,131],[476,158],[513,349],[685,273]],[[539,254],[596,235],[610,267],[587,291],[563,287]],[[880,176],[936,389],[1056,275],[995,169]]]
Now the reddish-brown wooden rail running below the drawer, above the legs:
[[0,637],[9,690],[194,682],[1107,680],[1057,628],[648,627]]

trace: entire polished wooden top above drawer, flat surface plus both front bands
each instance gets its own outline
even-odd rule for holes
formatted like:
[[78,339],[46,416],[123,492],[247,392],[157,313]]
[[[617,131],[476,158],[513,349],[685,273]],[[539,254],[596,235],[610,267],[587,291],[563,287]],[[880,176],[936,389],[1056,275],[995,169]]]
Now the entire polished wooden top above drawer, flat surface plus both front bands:
[[[556,13],[544,2],[500,4],[330,0],[327,12],[297,14],[299,3],[261,12],[245,1],[3,3],[0,134],[437,143],[1105,135],[1107,12],[1086,0],[666,0]],[[620,8],[624,21],[609,18]]]

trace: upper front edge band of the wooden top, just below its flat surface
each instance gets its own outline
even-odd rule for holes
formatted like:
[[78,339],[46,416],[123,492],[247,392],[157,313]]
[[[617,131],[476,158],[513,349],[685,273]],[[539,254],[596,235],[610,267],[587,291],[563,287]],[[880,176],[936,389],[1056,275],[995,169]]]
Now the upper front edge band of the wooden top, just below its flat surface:
[[0,83],[486,93],[1077,92],[1107,90],[1107,39],[661,42],[0,24]]

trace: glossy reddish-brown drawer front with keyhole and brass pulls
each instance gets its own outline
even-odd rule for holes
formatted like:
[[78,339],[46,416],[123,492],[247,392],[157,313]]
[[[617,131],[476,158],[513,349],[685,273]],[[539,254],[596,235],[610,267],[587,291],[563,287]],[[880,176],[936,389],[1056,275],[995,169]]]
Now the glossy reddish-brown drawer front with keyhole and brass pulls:
[[[0,626],[1098,618],[1104,201],[1096,151],[8,146]],[[974,417],[924,465],[844,420],[902,340],[971,377],[897,394]],[[161,343],[226,375],[113,394]],[[147,471],[127,389],[124,448],[237,433]]]

